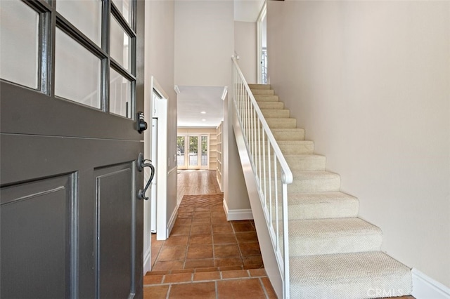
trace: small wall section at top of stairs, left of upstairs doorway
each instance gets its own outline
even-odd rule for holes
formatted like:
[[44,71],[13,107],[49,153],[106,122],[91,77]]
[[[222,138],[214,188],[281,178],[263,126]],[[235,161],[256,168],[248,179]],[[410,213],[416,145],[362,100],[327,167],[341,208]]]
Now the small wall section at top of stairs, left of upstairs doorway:
[[256,22],[234,22],[234,50],[239,67],[248,83],[257,83]]

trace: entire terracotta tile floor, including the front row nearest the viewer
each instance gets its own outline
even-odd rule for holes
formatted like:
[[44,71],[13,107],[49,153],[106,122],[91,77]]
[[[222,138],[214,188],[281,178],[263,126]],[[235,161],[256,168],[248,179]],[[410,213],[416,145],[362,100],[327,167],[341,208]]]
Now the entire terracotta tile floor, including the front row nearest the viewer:
[[223,194],[185,195],[170,237],[152,236],[144,298],[276,298],[255,223],[227,221]]

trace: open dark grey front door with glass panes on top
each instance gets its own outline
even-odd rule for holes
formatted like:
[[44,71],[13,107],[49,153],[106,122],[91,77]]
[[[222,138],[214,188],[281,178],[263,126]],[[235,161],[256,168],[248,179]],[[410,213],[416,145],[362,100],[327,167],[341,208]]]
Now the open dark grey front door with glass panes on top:
[[0,1],[1,298],[142,298],[143,1]]

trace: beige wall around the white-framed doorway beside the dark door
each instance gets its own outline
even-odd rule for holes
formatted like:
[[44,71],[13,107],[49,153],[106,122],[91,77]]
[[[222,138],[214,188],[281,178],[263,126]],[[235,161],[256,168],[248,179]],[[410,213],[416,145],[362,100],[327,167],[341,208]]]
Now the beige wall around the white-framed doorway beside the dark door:
[[[176,93],[174,91],[174,1],[146,1],[146,101],[150,100],[150,77],[153,76],[169,96],[167,107],[167,170],[176,167]],[[148,103],[148,102],[146,102]],[[151,111],[146,105],[146,121]],[[150,140],[150,128],[145,131]],[[150,142],[147,143],[150,146]],[[150,147],[146,145],[146,157]],[[149,158],[148,158],[149,159]],[[175,171],[176,173],[176,171]],[[176,175],[167,178],[167,215],[176,208]]]

